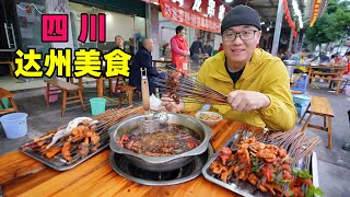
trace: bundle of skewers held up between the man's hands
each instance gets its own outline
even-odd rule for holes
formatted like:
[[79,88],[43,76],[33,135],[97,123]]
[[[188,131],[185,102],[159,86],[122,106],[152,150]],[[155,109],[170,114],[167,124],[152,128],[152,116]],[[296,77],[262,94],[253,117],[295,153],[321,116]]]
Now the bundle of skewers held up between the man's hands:
[[179,99],[184,103],[226,104],[226,95],[186,76],[185,72],[177,71],[171,66],[166,67],[166,79],[156,79],[155,82],[160,93],[173,99],[176,104],[179,103]]

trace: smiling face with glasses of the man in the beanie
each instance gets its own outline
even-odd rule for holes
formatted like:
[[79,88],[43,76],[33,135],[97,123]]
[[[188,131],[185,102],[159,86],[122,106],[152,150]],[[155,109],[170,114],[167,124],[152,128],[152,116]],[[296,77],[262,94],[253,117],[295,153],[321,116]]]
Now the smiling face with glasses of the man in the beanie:
[[[235,37],[235,33],[240,35]],[[261,32],[250,25],[238,25],[225,30],[222,35],[222,46],[229,62],[246,63],[252,58],[260,36]]]

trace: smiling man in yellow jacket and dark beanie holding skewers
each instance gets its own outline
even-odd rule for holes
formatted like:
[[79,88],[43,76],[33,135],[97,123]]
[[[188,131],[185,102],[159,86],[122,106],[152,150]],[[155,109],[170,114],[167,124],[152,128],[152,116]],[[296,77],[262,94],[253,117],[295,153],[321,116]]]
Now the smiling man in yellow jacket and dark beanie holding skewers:
[[[233,8],[221,24],[223,51],[205,61],[197,80],[228,95],[228,105],[213,105],[211,111],[248,125],[289,130],[296,118],[289,74],[278,57],[256,48],[260,30],[259,15],[254,9]],[[162,100],[171,112],[201,107]]]

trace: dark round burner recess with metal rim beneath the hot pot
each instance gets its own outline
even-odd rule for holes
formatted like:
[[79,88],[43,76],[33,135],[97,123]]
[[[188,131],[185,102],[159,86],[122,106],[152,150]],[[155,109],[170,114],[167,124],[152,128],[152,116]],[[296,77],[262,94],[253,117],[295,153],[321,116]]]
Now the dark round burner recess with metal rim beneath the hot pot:
[[151,186],[165,186],[176,185],[191,181],[201,174],[201,170],[207,161],[213,154],[213,148],[209,143],[208,149],[202,154],[196,155],[194,161],[189,164],[172,171],[172,172],[150,172],[133,166],[125,157],[117,152],[110,151],[109,163],[115,172],[131,182],[151,185]]

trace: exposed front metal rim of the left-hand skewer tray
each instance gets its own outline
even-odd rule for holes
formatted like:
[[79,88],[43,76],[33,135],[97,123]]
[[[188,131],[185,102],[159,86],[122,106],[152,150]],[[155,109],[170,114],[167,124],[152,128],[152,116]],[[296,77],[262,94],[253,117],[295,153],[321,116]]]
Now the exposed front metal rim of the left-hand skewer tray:
[[20,151],[25,153],[26,155],[44,163],[45,165],[55,169],[56,171],[67,171],[70,169],[75,167],[77,165],[81,164],[82,162],[89,160],[93,155],[97,154],[102,150],[104,150],[106,147],[109,146],[109,140],[104,140],[105,142],[101,142],[101,147],[95,152],[91,152],[85,158],[80,158],[72,163],[68,163],[59,153],[59,155],[55,155],[54,158],[45,158],[42,154],[38,154],[37,151],[32,151],[31,149],[23,149],[22,146],[20,147]]

